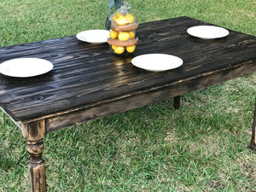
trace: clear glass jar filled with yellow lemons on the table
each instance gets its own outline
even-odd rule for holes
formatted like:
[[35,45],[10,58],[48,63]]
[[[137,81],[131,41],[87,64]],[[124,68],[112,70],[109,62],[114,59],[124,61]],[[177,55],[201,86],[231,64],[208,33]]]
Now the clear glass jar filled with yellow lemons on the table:
[[125,1],[121,1],[121,7],[110,16],[111,26],[108,44],[114,54],[125,55],[135,51],[138,38],[136,29],[137,20],[128,11],[131,7]]

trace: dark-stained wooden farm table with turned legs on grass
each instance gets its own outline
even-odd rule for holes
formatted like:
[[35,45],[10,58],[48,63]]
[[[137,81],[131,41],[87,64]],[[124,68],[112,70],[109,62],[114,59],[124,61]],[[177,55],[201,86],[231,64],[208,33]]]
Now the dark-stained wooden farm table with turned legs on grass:
[[[178,108],[184,93],[256,71],[255,37],[230,30],[226,38],[203,40],[186,32],[203,24],[189,17],[143,23],[137,50],[126,57],[111,54],[108,44],[88,44],[75,36],[0,48],[0,63],[38,57],[54,64],[51,72],[34,78],[0,74],[0,106],[26,139],[32,191],[46,190],[41,154],[47,133],[170,97]],[[177,55],[183,66],[152,73],[131,65],[134,56],[148,53]]]

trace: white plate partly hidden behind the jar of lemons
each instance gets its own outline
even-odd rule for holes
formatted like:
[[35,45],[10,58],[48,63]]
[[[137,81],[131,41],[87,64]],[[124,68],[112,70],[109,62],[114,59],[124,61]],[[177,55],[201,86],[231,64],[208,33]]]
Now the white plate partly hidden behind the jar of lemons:
[[109,38],[108,30],[87,30],[79,32],[76,36],[79,40],[88,42],[90,44],[103,44]]

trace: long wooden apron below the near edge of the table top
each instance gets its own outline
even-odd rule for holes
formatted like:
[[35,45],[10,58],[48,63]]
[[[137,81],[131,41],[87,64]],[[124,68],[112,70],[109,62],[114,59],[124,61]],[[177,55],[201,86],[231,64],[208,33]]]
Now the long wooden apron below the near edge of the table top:
[[69,113],[57,114],[45,118],[47,132],[61,130],[67,126],[81,124],[90,120],[100,119],[114,113],[122,113],[134,108],[143,107],[150,103],[161,102],[173,96],[200,90],[212,84],[222,83],[224,81],[235,79],[248,73],[256,71],[256,63],[248,61],[242,65],[227,68],[214,73],[206,73],[191,79],[184,79],[173,84],[167,84],[159,89],[150,89],[142,93],[130,94],[127,97],[119,96],[111,102],[104,102],[93,107],[79,108]]

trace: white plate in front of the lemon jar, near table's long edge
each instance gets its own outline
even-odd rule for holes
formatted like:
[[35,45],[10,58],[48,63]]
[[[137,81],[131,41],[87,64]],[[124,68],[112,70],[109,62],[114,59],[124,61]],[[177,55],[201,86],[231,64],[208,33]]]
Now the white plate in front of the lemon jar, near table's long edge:
[[161,72],[180,67],[183,60],[174,55],[167,54],[145,54],[134,57],[132,65],[151,72]]

